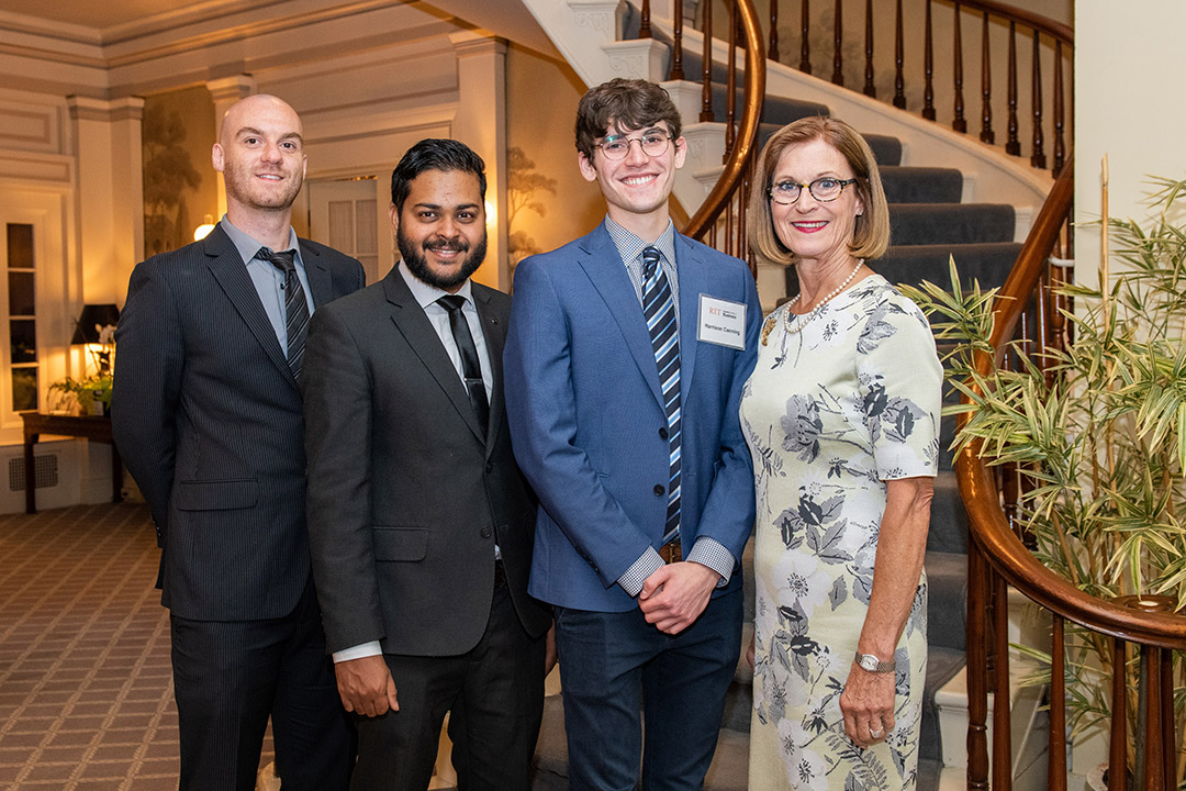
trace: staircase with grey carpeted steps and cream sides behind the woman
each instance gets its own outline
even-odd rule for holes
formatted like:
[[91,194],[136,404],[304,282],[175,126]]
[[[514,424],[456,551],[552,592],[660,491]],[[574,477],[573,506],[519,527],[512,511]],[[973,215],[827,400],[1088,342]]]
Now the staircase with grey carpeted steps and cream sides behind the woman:
[[[725,125],[699,121],[699,84],[664,79],[671,45],[667,36],[670,27],[652,19],[653,38],[632,40],[638,30],[638,13],[633,6],[626,6],[625,13],[614,13],[617,2],[602,0],[524,0],[524,5],[561,52],[578,58],[572,60],[573,66],[587,83],[597,84],[614,76],[638,76],[662,82],[668,88],[683,114],[684,135],[689,141],[688,161],[677,177],[674,194],[691,215],[721,173]],[[605,14],[600,23],[595,21],[598,13]],[[604,40],[597,42],[595,37],[591,40],[591,31],[604,34]],[[573,33],[578,33],[575,42],[567,38]],[[687,75],[701,74],[702,39],[697,37],[696,31],[684,30]],[[715,119],[723,120],[728,90],[727,46],[716,44],[713,110]],[[638,71],[630,72],[631,68]],[[737,107],[740,108],[740,90],[738,96]],[[977,279],[984,288],[1003,285],[1016,261],[1020,241],[1050,190],[1048,176],[1009,160],[965,135],[779,64],[769,64],[759,149],[782,126],[822,114],[836,114],[862,129],[878,159],[893,231],[890,251],[880,261],[871,262],[875,272],[892,283],[923,280],[946,283],[948,259],[954,256],[967,280]],[[797,292],[795,273],[784,268],[759,268],[758,286],[767,311]],[[949,394],[949,400],[952,398]],[[944,420],[940,435],[944,448],[954,432],[954,419]],[[952,470],[951,454],[944,449],[925,561],[930,581],[930,659],[919,751],[920,791],[964,787],[959,757],[963,755],[967,709],[961,712],[958,698],[965,697],[959,674],[964,666],[968,521]],[[751,554],[752,542],[742,562],[750,624],[753,617]],[[747,625],[745,645],[748,645],[751,630]],[[746,787],[751,681],[742,657],[729,690],[716,757],[706,779],[704,787],[709,791]],[[945,685],[948,689],[939,695]],[[943,708],[949,716],[952,709],[956,712],[955,721],[945,727],[940,725],[937,695],[945,702]],[[1037,702],[1031,708],[1037,710]],[[940,734],[948,734],[948,741],[958,734],[958,744],[943,744]],[[1026,746],[1024,736],[1014,738],[1014,744],[1019,742]],[[949,764],[945,771],[944,755]],[[546,704],[536,768],[535,789],[567,787],[567,747],[559,695],[550,696]]]

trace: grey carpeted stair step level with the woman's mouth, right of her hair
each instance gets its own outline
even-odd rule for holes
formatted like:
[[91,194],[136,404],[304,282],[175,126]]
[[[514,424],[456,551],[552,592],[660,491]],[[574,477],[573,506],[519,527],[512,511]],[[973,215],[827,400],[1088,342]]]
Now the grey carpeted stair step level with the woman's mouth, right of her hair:
[[1012,242],[1016,218],[1003,203],[890,205],[891,244]]

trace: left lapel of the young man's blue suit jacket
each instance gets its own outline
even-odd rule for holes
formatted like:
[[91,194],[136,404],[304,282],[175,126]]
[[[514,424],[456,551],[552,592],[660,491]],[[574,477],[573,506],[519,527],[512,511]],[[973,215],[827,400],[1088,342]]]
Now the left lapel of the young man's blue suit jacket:
[[650,385],[655,401],[662,406],[663,389],[659,385],[655,350],[651,346],[650,332],[646,330],[646,320],[643,319],[643,308],[638,304],[635,286],[630,282],[630,274],[621,263],[621,255],[610,237],[610,231],[605,230],[605,225],[598,225],[597,230],[581,240],[581,251],[585,255],[579,260],[580,266],[613,314],[630,356],[635,358],[635,364]]

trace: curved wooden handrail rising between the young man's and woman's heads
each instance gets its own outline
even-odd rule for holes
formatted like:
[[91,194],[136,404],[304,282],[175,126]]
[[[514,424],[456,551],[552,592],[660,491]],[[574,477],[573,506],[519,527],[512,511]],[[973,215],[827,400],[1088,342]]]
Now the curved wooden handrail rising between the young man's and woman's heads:
[[700,204],[700,209],[683,229],[686,236],[700,238],[716,221],[737,191],[746,165],[758,140],[758,123],[761,120],[761,103],[766,97],[766,49],[753,0],[733,0],[741,19],[745,34],[745,108],[738,123],[738,136],[729,152],[721,178],[712,192]]

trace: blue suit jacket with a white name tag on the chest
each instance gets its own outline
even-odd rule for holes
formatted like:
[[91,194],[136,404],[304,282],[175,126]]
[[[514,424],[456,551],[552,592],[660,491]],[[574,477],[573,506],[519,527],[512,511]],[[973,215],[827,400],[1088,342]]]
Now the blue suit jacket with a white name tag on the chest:
[[[710,536],[740,559],[754,490],[738,407],[761,308],[744,263],[680,235],[675,247],[683,549]],[[696,340],[701,294],[745,304],[745,351]],[[531,595],[580,610],[633,608],[616,582],[661,544],[669,447],[643,311],[604,225],[518,264],[503,359],[515,457],[541,503]],[[740,583],[734,575],[725,589]]]

